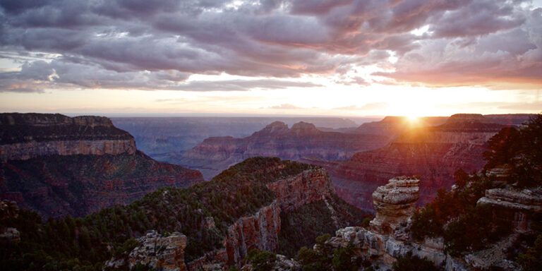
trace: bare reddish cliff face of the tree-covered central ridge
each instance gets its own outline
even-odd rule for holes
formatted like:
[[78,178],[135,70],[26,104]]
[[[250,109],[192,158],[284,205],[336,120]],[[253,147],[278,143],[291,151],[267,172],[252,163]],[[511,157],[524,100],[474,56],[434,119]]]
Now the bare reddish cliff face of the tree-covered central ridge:
[[[224,249],[188,263],[189,270],[207,270],[214,266],[239,265],[251,249],[277,251],[281,214],[303,205],[330,198],[335,191],[325,169],[315,168],[267,183],[276,199],[254,215],[241,217],[231,224],[222,241]],[[190,244],[188,243],[188,246]]]

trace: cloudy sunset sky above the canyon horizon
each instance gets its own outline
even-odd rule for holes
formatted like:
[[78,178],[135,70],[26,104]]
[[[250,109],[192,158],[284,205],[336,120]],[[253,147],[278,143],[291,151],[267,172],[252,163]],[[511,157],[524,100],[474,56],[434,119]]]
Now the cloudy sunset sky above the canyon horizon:
[[542,112],[542,0],[0,0],[0,112]]

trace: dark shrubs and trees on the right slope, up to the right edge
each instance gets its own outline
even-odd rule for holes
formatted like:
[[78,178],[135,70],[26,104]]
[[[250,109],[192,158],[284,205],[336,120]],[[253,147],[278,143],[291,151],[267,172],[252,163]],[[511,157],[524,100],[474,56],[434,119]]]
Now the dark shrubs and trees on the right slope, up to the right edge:
[[[469,175],[458,170],[454,176],[456,188],[438,191],[432,203],[416,212],[411,227],[415,239],[442,236],[446,250],[457,255],[477,251],[507,236],[510,222],[493,219],[492,210],[476,206],[476,202],[489,188],[542,185],[542,115],[521,128],[502,128],[488,142],[484,157],[488,161],[484,171]],[[509,169],[504,183],[486,174],[495,167]]]

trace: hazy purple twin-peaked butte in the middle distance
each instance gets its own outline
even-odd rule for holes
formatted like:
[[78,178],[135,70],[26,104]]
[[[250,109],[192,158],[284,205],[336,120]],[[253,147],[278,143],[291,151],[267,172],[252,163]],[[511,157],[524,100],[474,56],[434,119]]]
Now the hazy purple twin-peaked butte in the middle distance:
[[324,132],[305,122],[288,128],[287,124],[275,121],[246,138],[207,138],[188,150],[179,164],[200,169],[207,178],[248,157],[344,160],[356,152],[382,147],[388,141],[385,135]]

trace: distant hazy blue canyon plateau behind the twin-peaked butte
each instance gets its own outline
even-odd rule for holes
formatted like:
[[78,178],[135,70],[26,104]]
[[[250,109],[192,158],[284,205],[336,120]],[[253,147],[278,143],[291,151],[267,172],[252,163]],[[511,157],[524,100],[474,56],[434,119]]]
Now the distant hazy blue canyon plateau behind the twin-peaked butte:
[[289,126],[300,121],[314,124],[318,128],[355,128],[357,123],[373,121],[375,118],[344,119],[334,117],[210,117],[210,116],[163,116],[163,117],[114,117],[116,127],[128,131],[142,150],[153,159],[175,163],[182,152],[190,150],[205,138],[232,136],[244,138],[259,131],[273,121],[282,121]]

